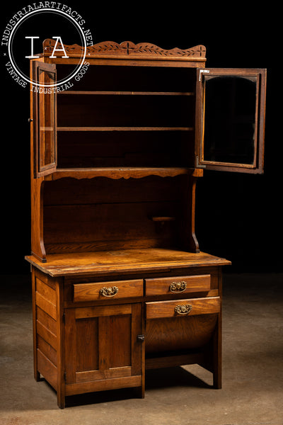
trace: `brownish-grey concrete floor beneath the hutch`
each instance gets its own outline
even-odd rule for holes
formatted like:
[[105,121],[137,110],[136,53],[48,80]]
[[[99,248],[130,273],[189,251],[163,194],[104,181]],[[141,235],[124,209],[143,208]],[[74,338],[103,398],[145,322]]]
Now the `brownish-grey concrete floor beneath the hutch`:
[[197,365],[146,373],[132,390],[69,397],[33,379],[29,276],[1,276],[1,425],[282,425],[283,274],[224,275],[223,387]]

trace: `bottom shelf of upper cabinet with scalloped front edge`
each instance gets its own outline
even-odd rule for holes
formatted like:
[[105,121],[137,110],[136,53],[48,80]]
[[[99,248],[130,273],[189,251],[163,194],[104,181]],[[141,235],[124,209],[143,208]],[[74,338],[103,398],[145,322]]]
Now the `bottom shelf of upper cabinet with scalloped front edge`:
[[108,177],[110,179],[140,179],[146,176],[175,177],[180,174],[202,176],[202,169],[190,169],[184,167],[104,167],[104,168],[76,168],[57,169],[53,174],[47,176],[47,180],[58,180],[64,177],[74,179],[93,179],[93,177]]

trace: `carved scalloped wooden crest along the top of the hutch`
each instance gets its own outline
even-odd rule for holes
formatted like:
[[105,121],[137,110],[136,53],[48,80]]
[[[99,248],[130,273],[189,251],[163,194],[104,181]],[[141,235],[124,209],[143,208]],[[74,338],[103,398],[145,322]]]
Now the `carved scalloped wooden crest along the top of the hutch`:
[[[47,39],[43,42],[43,55],[50,56],[55,45],[55,40]],[[79,45],[64,45],[64,49],[69,57],[80,57],[83,47]],[[137,45],[132,41],[123,41],[120,44],[114,41],[98,42],[95,45],[86,47],[87,57],[123,57],[131,59],[183,59],[183,60],[205,60],[206,48],[204,45],[197,45],[189,49],[162,49],[149,42],[139,42]],[[62,57],[64,52],[56,52],[57,57]]]

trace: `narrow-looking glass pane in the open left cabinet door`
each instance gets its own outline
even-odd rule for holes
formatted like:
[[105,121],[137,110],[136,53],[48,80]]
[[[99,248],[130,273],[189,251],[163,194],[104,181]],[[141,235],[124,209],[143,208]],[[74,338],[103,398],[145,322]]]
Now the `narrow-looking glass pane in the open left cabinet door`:
[[[39,83],[54,83],[55,74],[53,72],[39,69]],[[42,92],[42,93],[40,93]],[[55,162],[54,152],[54,93],[48,93],[48,88],[40,87],[38,95],[39,101],[39,121],[40,121],[40,170]]]

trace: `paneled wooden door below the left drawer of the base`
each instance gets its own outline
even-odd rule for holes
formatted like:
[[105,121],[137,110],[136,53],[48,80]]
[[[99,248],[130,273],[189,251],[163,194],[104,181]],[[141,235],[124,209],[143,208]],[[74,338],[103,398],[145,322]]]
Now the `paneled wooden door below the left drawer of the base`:
[[140,333],[139,304],[68,309],[67,384],[141,375]]

